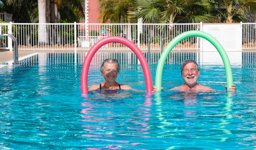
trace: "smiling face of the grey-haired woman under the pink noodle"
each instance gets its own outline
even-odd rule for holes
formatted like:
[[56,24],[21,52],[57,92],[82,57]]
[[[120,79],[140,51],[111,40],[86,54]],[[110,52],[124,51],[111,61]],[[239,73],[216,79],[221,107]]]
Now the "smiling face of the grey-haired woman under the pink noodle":
[[116,81],[118,77],[118,65],[116,63],[105,63],[102,74],[105,81]]

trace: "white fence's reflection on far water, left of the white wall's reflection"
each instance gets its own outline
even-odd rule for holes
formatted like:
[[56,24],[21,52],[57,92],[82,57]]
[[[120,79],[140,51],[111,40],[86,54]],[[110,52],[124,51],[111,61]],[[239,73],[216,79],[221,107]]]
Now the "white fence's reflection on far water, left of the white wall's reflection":
[[[87,53],[39,53],[31,58],[20,60],[20,64],[62,64],[62,63],[84,63]],[[148,64],[157,64],[161,53],[143,53]],[[140,64],[135,53],[101,53],[98,52],[94,55],[91,61],[91,65],[99,66],[104,59],[114,58],[118,59],[120,64]],[[186,59],[198,59],[198,53],[196,52],[171,52],[167,57],[167,64],[179,64]]]

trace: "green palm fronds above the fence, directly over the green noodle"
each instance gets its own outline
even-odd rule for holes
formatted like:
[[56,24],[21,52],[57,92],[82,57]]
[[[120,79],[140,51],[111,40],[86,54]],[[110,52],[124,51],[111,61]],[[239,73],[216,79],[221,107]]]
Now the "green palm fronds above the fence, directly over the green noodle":
[[213,16],[204,8],[201,0],[135,0],[132,19],[142,18],[144,22],[170,23],[210,22]]

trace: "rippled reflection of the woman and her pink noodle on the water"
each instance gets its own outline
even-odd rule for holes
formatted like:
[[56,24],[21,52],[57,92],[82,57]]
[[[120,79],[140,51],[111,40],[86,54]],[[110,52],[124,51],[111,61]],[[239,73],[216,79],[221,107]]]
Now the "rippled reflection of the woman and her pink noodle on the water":
[[[111,96],[108,97],[109,94]],[[152,97],[146,95],[143,103],[133,103],[130,97],[134,98],[134,94],[133,91],[123,90],[98,91],[84,99],[80,121],[83,122],[81,127],[85,134],[82,136],[92,143],[97,141],[97,145],[88,146],[87,149],[132,148],[144,145],[137,138],[151,138],[149,121]]]

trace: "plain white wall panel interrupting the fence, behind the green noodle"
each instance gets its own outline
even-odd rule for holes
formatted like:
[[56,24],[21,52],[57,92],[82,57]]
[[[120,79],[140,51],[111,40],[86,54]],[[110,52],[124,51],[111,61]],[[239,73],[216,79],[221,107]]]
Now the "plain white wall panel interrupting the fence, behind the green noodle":
[[[203,24],[203,31],[215,37],[228,55],[231,64],[242,63],[241,24]],[[206,39],[202,39],[200,63],[223,64],[217,49]]]

